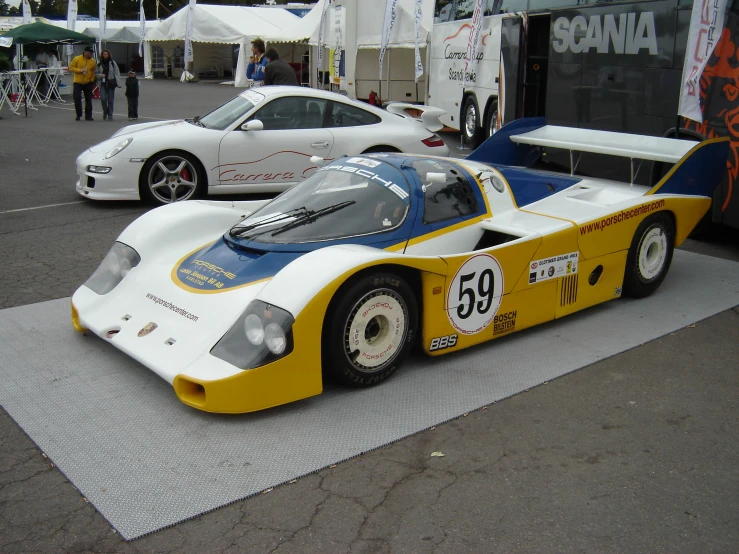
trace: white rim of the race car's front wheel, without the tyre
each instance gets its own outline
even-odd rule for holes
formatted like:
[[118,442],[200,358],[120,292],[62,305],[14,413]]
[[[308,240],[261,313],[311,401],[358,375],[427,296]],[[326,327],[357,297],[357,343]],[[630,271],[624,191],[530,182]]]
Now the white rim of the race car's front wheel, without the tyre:
[[372,291],[349,313],[344,332],[344,352],[352,365],[374,373],[391,364],[408,332],[408,311],[403,299],[391,290]]

